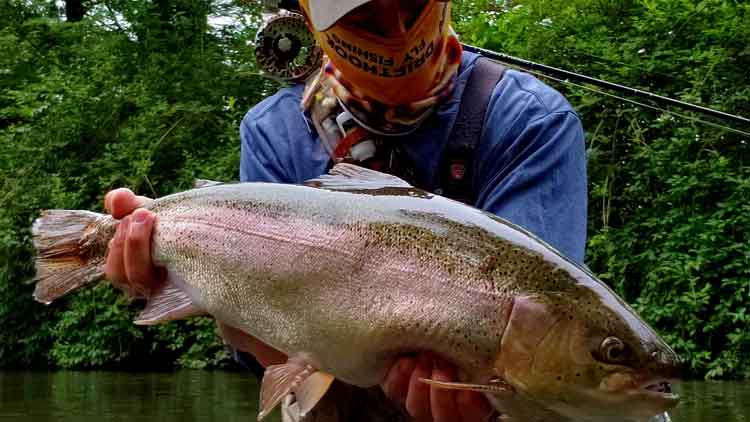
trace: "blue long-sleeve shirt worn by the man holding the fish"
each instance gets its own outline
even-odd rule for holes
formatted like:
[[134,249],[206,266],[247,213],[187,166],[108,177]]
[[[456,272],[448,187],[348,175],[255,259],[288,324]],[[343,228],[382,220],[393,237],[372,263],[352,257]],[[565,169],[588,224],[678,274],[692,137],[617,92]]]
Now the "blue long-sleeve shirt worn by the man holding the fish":
[[[403,139],[417,180],[434,181],[478,56],[465,52],[450,101]],[[240,180],[301,183],[330,157],[301,109],[301,85],[253,107],[240,126]],[[507,70],[495,87],[476,151],[475,206],[536,234],[575,262],[586,243],[586,162],[581,122],[560,93]]]

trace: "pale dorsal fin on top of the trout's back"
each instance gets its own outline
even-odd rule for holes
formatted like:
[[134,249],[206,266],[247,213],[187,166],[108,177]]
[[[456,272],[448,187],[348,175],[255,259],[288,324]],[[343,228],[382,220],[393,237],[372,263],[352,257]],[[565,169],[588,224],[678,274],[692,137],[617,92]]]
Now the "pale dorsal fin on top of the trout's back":
[[396,176],[346,163],[336,164],[328,174],[307,180],[305,185],[327,190],[414,189]]

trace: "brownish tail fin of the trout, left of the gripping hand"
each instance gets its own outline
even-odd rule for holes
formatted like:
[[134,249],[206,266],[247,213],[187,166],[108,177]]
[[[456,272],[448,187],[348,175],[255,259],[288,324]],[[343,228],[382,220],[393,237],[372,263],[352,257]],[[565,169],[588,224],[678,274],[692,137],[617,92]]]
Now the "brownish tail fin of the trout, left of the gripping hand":
[[49,304],[104,277],[114,218],[89,211],[47,210],[32,227],[36,257],[34,299]]

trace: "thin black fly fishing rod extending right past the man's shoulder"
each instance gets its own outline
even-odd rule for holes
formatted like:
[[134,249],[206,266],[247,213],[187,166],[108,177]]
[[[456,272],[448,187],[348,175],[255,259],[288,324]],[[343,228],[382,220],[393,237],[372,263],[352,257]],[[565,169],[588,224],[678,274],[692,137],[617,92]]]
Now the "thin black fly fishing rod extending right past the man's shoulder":
[[562,82],[576,81],[576,82],[587,83],[590,85],[598,86],[600,88],[605,88],[605,89],[609,89],[612,91],[621,92],[630,96],[651,100],[656,103],[678,107],[683,110],[702,113],[708,116],[716,117],[721,120],[750,125],[750,119],[746,117],[738,116],[736,114],[729,114],[723,111],[714,110],[712,108],[687,103],[685,101],[675,100],[674,98],[665,97],[663,95],[657,95],[652,92],[643,91],[638,88],[632,88],[629,86],[620,85],[620,84],[616,84],[613,82],[608,82],[602,79],[592,78],[591,76],[581,75],[579,73],[571,72],[569,70],[560,69],[557,67],[547,66],[541,63],[535,63],[529,60],[520,59],[518,57],[509,56],[507,54],[498,53],[496,51],[487,50],[484,48],[479,48],[479,47],[475,47],[475,46],[468,45],[468,44],[462,44],[462,45],[463,45],[464,50],[477,53],[482,57],[486,57],[491,60],[496,60],[502,63],[518,66],[522,69],[537,71],[543,75],[552,75],[552,76],[561,78]]

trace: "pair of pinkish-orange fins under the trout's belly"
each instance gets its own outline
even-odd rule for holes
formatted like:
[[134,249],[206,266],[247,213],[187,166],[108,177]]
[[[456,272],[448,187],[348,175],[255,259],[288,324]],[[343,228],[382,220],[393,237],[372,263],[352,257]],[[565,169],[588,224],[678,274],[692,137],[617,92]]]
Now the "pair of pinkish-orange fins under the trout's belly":
[[269,366],[260,387],[258,420],[268,416],[289,393],[294,393],[300,416],[304,417],[323,398],[333,379],[333,375],[294,358],[281,365]]

